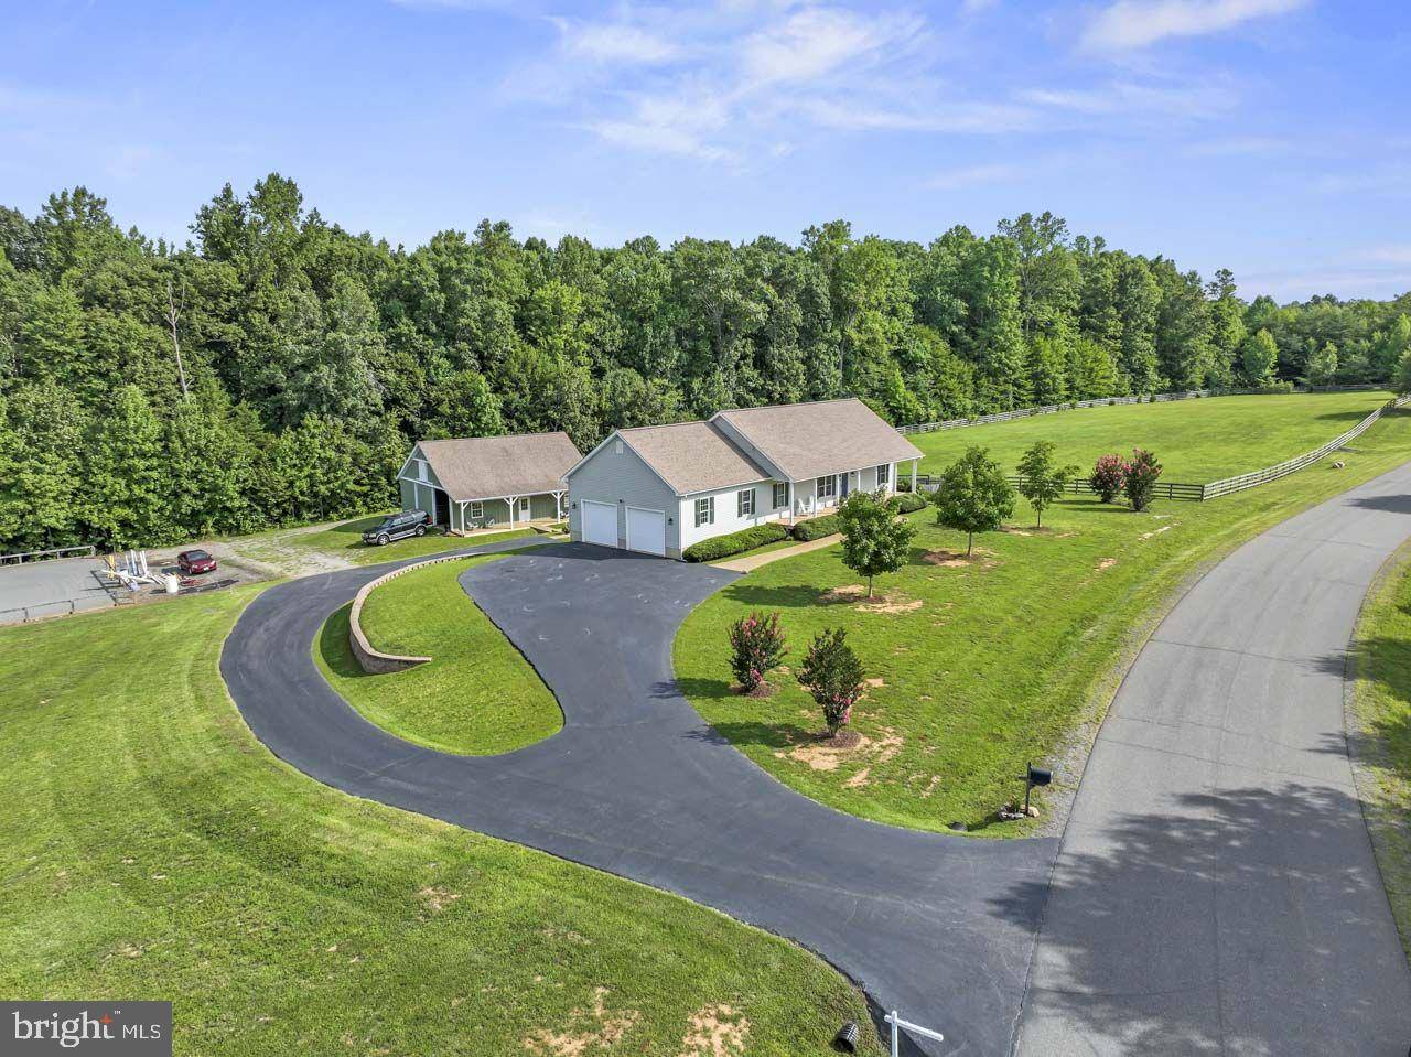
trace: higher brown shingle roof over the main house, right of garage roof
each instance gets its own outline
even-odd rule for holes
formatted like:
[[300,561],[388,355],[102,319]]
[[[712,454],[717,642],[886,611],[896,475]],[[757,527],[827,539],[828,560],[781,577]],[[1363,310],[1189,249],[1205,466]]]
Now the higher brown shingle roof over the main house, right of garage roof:
[[796,481],[921,457],[912,442],[856,398],[721,411],[714,419],[739,430]]

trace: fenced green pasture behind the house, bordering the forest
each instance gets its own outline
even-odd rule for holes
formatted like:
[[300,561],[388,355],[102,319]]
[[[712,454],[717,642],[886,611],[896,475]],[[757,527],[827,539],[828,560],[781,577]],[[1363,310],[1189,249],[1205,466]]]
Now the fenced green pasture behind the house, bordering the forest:
[[1387,392],[1215,397],[1168,404],[1120,404],[1036,415],[1016,422],[907,437],[926,453],[923,473],[940,473],[971,445],[988,447],[1006,470],[1036,440],[1089,470],[1108,452],[1156,452],[1165,478],[1188,484],[1259,470],[1309,452],[1386,404]]

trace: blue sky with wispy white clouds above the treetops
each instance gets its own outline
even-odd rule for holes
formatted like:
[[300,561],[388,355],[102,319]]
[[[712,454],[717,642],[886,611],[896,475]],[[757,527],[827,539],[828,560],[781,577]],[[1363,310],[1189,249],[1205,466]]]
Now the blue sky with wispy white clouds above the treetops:
[[1246,296],[1411,289],[1397,0],[0,3],[0,203],[186,238],[277,169],[394,243],[927,241],[1050,209]]

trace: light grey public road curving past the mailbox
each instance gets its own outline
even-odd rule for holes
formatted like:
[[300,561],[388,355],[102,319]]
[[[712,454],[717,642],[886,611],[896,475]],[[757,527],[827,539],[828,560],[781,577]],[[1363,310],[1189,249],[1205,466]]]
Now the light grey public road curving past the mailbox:
[[1411,466],[1249,542],[1157,629],[1070,816],[1020,1053],[1405,1057],[1342,673],[1408,535]]

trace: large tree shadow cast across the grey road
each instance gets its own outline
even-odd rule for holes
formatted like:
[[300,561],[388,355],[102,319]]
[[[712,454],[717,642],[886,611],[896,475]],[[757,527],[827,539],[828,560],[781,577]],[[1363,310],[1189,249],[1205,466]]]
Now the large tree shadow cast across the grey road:
[[[1044,888],[1000,886],[993,913]],[[1390,920],[1342,789],[1185,795],[1071,828],[1047,896],[1024,1017],[1094,1051],[1353,1053],[1411,1032],[1405,967],[1366,943]]]

